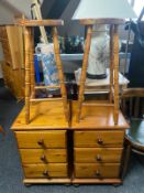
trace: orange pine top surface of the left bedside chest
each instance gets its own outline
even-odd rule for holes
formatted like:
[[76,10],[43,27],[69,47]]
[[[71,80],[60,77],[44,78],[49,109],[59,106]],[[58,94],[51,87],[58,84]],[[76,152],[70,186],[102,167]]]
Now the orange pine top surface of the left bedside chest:
[[12,129],[65,129],[68,122],[65,119],[62,101],[38,101],[30,107],[30,124],[25,124],[24,107],[16,117]]

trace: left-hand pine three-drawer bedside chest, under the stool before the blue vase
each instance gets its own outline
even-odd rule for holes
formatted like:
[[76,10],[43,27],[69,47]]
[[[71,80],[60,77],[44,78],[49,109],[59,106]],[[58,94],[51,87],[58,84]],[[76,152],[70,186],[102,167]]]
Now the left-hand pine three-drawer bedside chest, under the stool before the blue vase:
[[67,130],[62,101],[35,103],[25,125],[24,108],[12,126],[24,171],[24,183],[69,183]]

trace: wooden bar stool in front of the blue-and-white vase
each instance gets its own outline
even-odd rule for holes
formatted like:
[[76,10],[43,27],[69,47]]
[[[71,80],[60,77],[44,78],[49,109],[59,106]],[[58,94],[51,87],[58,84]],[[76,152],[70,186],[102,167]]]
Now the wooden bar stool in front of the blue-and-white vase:
[[[57,26],[63,25],[62,20],[21,20],[19,25],[24,28],[24,50],[25,50],[25,122],[30,122],[30,105],[33,101],[55,101],[62,100],[64,106],[64,114],[66,120],[69,121],[69,107],[67,104],[67,93],[65,87],[65,79],[63,73],[63,66],[59,55],[59,44],[57,35]],[[35,86],[35,73],[34,73],[34,42],[33,42],[33,28],[34,26],[52,26],[53,28],[53,41],[55,62],[58,69],[59,85],[54,86]],[[58,98],[35,98],[36,89],[45,88],[59,88],[62,97]]]

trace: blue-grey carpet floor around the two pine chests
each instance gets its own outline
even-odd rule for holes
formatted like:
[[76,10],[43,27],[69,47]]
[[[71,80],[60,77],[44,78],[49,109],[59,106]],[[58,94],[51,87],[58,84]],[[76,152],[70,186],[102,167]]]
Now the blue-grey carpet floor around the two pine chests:
[[144,193],[144,163],[134,154],[123,185],[32,185],[26,187],[22,183],[23,172],[18,153],[12,122],[21,110],[23,103],[18,103],[10,92],[0,88],[0,125],[7,136],[0,137],[0,193]]

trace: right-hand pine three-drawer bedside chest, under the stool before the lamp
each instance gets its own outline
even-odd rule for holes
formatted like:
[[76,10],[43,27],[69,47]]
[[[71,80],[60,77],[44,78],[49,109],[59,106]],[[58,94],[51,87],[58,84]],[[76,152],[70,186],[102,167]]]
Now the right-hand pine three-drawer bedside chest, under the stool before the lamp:
[[114,125],[112,107],[82,107],[76,121],[77,103],[73,105],[74,183],[121,183],[123,141],[129,128],[122,114]]

